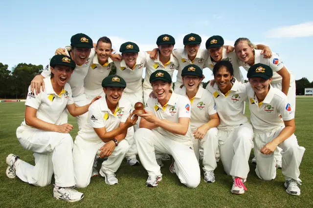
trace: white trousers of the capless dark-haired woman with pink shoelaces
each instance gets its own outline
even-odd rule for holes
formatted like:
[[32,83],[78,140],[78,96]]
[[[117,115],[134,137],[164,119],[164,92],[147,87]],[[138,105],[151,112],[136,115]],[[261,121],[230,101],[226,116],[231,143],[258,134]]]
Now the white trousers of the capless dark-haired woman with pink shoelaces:
[[[252,125],[245,123],[224,131],[219,129],[219,149],[224,171],[227,175],[246,179],[249,172],[249,156],[253,146]],[[211,161],[216,168],[216,161]]]

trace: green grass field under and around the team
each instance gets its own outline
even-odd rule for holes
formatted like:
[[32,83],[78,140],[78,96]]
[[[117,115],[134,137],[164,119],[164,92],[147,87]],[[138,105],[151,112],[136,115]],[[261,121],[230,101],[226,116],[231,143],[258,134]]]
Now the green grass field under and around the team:
[[[76,203],[56,200],[52,197],[52,184],[47,187],[30,186],[18,178],[5,175],[5,158],[9,153],[20,155],[21,159],[34,164],[31,151],[22,148],[16,138],[16,129],[24,118],[24,103],[0,103],[0,208],[24,207],[313,207],[313,99],[297,98],[296,136],[300,146],[306,148],[300,166],[302,180],[301,195],[290,196],[284,188],[284,176],[277,170],[272,181],[262,181],[250,164],[244,195],[230,193],[232,178],[224,174],[221,162],[215,170],[216,182],[207,184],[201,180],[199,187],[189,189],[180,184],[176,175],[171,174],[167,161],[161,168],[163,180],[157,187],[145,186],[147,172],[142,166],[128,166],[122,163],[116,176],[119,184],[109,186],[100,176],[91,179],[87,188],[79,189],[85,198]],[[249,115],[249,112],[247,112]],[[69,119],[77,134],[74,118]],[[253,153],[250,156],[252,159]],[[100,168],[100,162],[98,163]],[[53,180],[54,181],[54,180]],[[52,181],[52,183],[53,183]]]

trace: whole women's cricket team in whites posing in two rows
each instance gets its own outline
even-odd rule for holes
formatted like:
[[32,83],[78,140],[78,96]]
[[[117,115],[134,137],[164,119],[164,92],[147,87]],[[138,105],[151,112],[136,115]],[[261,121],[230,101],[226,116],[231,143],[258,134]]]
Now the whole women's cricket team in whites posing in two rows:
[[[206,49],[201,42],[191,33],[184,48],[174,49],[175,39],[164,34],[151,51],[125,42],[116,53],[107,37],[93,43],[86,34],[73,35],[70,46],[58,48],[30,83],[25,119],[16,131],[21,145],[34,152],[36,165],[9,154],[6,175],[44,187],[54,174],[54,198],[76,202],[84,194],[74,188],[87,187],[91,177],[100,174],[106,184],[117,184],[124,158],[147,170],[147,187],[158,185],[162,161],[172,158],[171,173],[188,188],[198,187],[202,177],[207,183],[219,180],[214,170],[221,160],[233,179],[231,193],[243,194],[254,148],[257,176],[272,180],[281,168],[286,192],[300,195],[305,148],[293,134],[291,72],[268,46],[246,38],[234,47],[224,45],[221,36],[210,37]],[[114,66],[116,74],[110,75]],[[214,75],[205,89],[203,69]],[[68,113],[79,126],[74,142]],[[98,158],[104,158],[99,171]]]

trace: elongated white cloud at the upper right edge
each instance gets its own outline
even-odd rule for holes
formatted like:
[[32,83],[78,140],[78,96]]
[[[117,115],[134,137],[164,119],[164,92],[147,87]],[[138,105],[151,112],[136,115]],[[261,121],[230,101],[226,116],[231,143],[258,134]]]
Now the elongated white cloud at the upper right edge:
[[268,31],[268,38],[296,38],[313,36],[313,21],[281,26]]

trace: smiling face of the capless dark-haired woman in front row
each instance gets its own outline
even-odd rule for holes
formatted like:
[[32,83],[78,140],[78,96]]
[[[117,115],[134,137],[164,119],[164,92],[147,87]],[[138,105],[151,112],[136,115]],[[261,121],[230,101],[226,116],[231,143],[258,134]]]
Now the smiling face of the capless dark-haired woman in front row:
[[215,83],[218,85],[219,89],[223,93],[231,89],[232,79],[233,79],[233,76],[230,75],[230,72],[227,70],[225,66],[221,66],[221,68],[216,72],[216,74],[214,74]]

